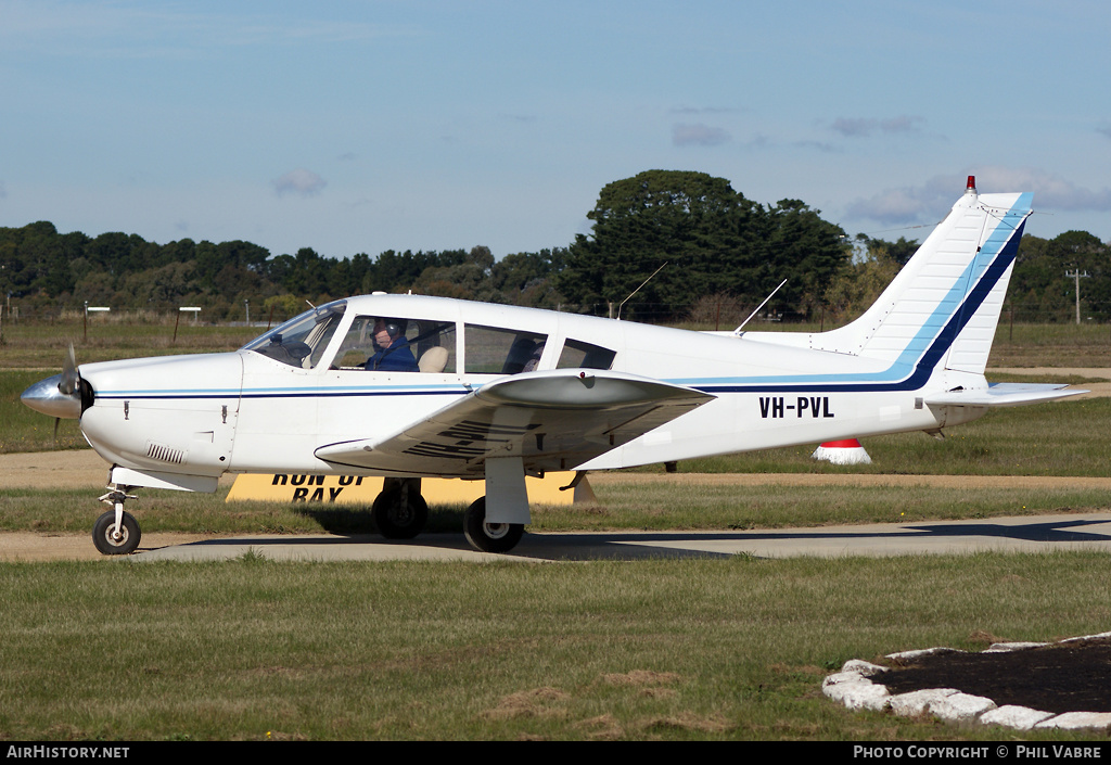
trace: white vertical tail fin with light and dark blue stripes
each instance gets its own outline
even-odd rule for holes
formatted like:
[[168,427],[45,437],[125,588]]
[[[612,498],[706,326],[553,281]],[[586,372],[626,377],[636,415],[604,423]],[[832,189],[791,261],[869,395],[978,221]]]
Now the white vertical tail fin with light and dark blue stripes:
[[968,189],[879,300],[810,347],[983,374],[1032,193]]

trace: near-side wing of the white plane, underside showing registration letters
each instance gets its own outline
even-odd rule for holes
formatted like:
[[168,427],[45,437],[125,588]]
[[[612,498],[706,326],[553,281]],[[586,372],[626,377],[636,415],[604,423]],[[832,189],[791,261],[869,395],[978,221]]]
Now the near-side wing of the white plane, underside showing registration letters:
[[569,470],[714,397],[613,371],[560,369],[483,385],[384,438],[317,449],[337,466],[413,476],[481,478],[488,457],[527,471]]

